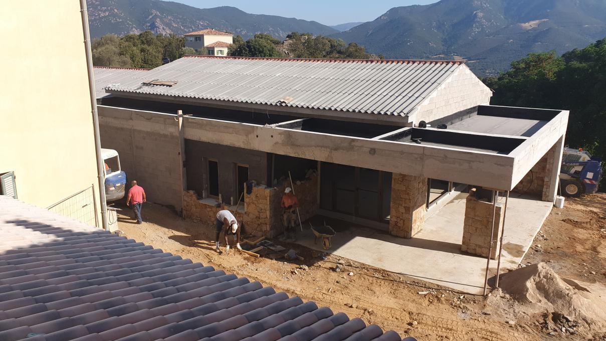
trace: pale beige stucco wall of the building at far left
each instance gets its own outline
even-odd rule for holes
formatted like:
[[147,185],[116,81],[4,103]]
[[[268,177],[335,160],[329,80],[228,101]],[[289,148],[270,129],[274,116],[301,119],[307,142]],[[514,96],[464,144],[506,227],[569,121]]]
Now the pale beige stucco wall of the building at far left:
[[0,31],[0,173],[46,208],[97,181],[79,2],[1,1]]

